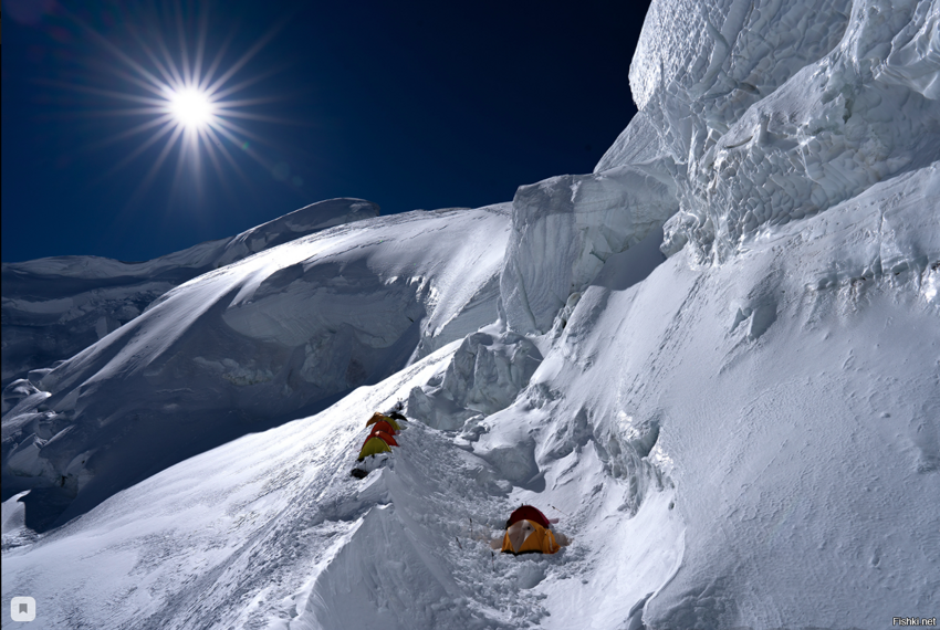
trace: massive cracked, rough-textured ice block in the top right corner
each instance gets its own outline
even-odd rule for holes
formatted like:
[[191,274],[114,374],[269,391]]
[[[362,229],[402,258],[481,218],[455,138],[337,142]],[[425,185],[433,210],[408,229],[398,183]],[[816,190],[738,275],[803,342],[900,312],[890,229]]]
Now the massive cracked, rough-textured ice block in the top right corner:
[[[937,2],[654,2],[630,67],[676,164],[664,251],[727,260],[940,157]],[[850,17],[849,17],[850,14]]]

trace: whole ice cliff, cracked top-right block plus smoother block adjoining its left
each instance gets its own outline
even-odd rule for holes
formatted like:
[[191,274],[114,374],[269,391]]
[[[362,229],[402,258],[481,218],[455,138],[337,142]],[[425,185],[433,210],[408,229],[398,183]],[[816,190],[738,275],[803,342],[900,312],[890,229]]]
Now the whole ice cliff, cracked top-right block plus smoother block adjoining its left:
[[[940,157],[937,2],[655,1],[639,114],[595,172],[522,187],[501,276],[545,332],[604,261],[664,225],[699,262]],[[667,222],[668,219],[668,222]]]

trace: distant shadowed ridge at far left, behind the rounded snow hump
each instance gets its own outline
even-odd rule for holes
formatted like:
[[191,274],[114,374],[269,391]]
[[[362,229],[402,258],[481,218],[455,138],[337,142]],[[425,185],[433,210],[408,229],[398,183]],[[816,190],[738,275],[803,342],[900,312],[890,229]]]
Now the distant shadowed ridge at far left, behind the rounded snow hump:
[[331,199],[230,239],[146,262],[58,256],[3,263],[2,387],[31,369],[72,357],[188,280],[293,239],[377,216],[378,206],[369,201]]

